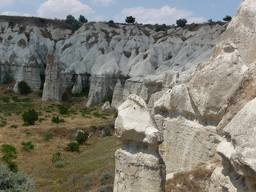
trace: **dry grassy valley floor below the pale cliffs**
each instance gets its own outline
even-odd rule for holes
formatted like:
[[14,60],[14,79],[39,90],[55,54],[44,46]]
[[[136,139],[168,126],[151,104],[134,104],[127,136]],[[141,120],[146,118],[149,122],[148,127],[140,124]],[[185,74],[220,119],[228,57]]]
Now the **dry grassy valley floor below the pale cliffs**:
[[[83,110],[86,98],[70,98],[69,114],[62,115],[58,110],[62,103],[42,102],[37,92],[15,94],[12,86],[0,84],[0,146],[6,143],[17,148],[18,158],[14,161],[19,170],[34,178],[38,184],[34,191],[96,191],[103,172],[110,171],[114,177],[114,152],[121,146],[114,136],[114,110],[103,114],[98,112],[101,106]],[[39,113],[41,122],[22,126],[22,114],[31,108]],[[65,122],[53,123],[51,119],[57,116]],[[63,150],[68,143],[75,142],[77,130],[90,132],[90,138],[80,146],[79,153]],[[102,130],[110,130],[111,136],[101,137]],[[47,141],[46,134],[53,138]],[[21,143],[29,141],[34,150],[23,150]],[[58,151],[65,166],[57,167],[50,161]],[[75,182],[69,180],[72,175]]]

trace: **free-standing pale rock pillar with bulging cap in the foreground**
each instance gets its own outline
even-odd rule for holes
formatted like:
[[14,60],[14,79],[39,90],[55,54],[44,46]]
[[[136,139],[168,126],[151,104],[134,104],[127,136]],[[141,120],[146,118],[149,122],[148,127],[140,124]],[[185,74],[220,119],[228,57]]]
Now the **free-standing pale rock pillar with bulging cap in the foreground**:
[[146,102],[131,94],[118,108],[114,192],[165,191],[166,166],[158,153],[163,141]]

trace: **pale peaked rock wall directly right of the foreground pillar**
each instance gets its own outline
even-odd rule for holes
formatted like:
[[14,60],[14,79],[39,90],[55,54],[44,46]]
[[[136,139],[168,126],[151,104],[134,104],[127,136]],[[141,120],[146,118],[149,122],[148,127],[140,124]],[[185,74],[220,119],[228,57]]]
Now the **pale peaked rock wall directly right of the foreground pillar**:
[[[154,119],[162,128],[165,141],[159,147],[166,172],[191,170],[217,158],[220,137],[214,122],[202,125],[186,85],[174,86],[154,103]],[[205,123],[205,122],[203,122]]]

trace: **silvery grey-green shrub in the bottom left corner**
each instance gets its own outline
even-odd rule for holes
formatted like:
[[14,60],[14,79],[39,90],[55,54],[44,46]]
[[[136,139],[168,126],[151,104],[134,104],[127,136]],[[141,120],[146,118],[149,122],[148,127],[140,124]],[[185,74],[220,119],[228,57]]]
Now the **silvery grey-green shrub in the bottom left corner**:
[[0,191],[32,191],[36,188],[33,179],[22,171],[10,171],[6,165],[0,164]]

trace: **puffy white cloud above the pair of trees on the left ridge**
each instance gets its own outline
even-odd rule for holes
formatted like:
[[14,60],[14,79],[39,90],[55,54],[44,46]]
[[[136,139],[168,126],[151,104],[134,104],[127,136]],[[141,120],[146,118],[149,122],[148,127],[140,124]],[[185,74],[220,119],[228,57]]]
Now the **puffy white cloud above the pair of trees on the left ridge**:
[[78,18],[80,14],[93,13],[93,10],[78,0],[48,0],[40,5],[37,12],[42,18],[66,18],[68,14]]

